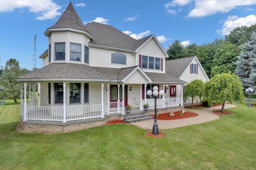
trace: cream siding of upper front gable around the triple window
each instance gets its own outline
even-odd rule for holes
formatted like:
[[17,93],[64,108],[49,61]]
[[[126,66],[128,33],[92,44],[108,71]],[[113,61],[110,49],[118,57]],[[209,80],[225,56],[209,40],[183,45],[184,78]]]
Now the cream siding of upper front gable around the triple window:
[[146,43],[137,53],[137,63],[139,63],[139,55],[146,55],[150,57],[158,57],[163,59],[163,71],[161,70],[152,70],[152,69],[143,69],[145,72],[156,72],[156,73],[165,73],[165,54],[162,52],[157,43],[151,39]]

